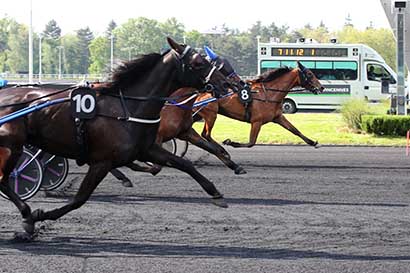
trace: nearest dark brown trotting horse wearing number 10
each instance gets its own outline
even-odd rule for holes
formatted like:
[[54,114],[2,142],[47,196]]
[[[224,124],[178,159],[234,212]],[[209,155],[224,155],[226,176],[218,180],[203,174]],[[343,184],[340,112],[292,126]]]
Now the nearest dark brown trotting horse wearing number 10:
[[[71,117],[68,103],[38,110],[0,127],[0,190],[22,215],[23,239],[32,238],[36,222],[57,220],[80,208],[111,169],[126,166],[134,160],[187,172],[212,196],[215,205],[227,207],[222,194],[192,163],[155,144],[159,113],[166,96],[184,86],[201,89],[211,84],[217,95],[226,92],[227,87],[226,78],[195,50],[179,45],[171,38],[167,40],[170,51],[143,55],[115,71],[112,84],[99,90],[97,114],[82,123],[81,134]],[[81,88],[74,88],[77,89]],[[74,90],[3,90],[0,93],[0,117],[42,101],[65,97]],[[82,136],[82,145],[79,145],[79,136]],[[81,159],[89,165],[78,192],[67,205],[50,211],[37,209],[31,212],[31,208],[8,186],[9,175],[25,143],[52,154]]]

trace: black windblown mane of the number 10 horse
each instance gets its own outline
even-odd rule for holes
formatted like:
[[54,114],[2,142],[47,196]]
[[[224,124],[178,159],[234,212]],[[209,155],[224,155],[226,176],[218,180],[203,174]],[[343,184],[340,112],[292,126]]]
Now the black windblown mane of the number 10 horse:
[[163,55],[151,53],[139,55],[136,59],[119,65],[111,76],[113,87],[124,87],[138,81],[150,71]]

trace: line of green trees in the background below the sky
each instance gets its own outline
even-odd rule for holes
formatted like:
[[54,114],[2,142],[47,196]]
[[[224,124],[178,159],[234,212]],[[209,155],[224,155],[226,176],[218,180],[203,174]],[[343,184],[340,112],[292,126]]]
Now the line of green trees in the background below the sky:
[[[240,75],[255,75],[257,71],[257,37],[267,42],[271,37],[283,42],[294,42],[297,38],[313,38],[318,42],[327,42],[336,37],[341,43],[363,43],[379,52],[386,62],[395,67],[396,48],[393,34],[388,29],[369,27],[358,30],[352,24],[346,24],[341,30],[330,32],[324,22],[318,26],[305,25],[300,29],[289,29],[286,25],[275,22],[262,24],[255,22],[248,30],[239,31],[226,26],[219,34],[200,33],[186,30],[176,18],[164,22],[138,17],[131,18],[121,25],[113,20],[100,36],[94,37],[88,28],[61,35],[62,30],[55,20],[49,21],[42,32],[43,73],[58,72],[59,46],[63,46],[63,72],[65,73],[101,73],[106,71],[110,57],[111,34],[114,34],[114,57],[116,60],[128,60],[138,54],[160,52],[168,47],[165,37],[171,36],[179,42],[184,40],[195,48],[211,46],[214,51],[226,57]],[[105,38],[105,40],[101,39]],[[34,35],[35,73],[38,72],[38,35]],[[5,71],[27,71],[27,27],[9,17],[0,18],[0,73]],[[37,55],[37,56],[36,56]],[[36,63],[37,62],[37,63]]]

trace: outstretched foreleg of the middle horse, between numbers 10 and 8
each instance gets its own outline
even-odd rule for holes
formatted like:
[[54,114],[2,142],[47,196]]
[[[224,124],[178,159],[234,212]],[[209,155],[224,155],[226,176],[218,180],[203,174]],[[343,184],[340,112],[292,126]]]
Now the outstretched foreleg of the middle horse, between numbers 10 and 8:
[[219,158],[228,168],[235,171],[235,174],[245,174],[246,171],[231,160],[230,154],[226,152],[219,144],[208,142],[202,138],[193,128],[190,128],[183,136],[180,137],[182,140],[188,140],[190,143],[204,149],[205,151],[215,155]]

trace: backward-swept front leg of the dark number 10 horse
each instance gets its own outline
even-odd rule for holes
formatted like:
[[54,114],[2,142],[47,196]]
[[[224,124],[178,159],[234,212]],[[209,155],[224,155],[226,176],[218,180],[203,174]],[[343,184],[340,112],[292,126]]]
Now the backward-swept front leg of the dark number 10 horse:
[[33,211],[33,213],[31,214],[33,225],[38,221],[57,220],[70,211],[80,208],[90,198],[95,188],[111,169],[111,162],[98,162],[92,164],[88,169],[83,182],[81,182],[80,188],[78,189],[73,200],[70,201],[67,205],[54,210],[43,211],[41,209],[37,209]]

